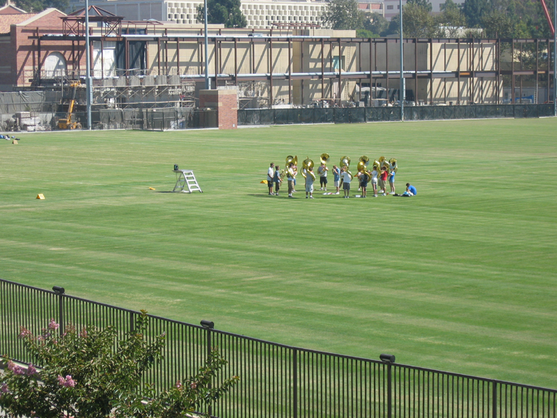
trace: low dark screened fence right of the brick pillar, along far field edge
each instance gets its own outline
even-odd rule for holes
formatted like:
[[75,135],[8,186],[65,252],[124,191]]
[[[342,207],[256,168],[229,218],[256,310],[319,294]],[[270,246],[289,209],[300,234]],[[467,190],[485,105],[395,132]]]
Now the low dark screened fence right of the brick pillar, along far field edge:
[[[405,107],[406,121],[554,116],[553,104],[469,104]],[[289,123],[364,123],[400,121],[400,107],[347,107],[238,110],[238,125]]]

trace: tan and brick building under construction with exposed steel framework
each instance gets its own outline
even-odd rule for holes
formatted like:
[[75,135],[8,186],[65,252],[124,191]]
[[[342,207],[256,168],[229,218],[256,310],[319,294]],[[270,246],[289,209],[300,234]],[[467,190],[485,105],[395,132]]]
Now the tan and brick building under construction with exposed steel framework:
[[[86,47],[84,10],[71,15],[49,10],[10,26],[6,37],[15,38],[16,59],[0,80],[4,90],[63,91],[86,76],[87,51],[96,110],[198,107],[205,61],[212,88],[237,88],[239,109],[380,106],[398,100],[396,38],[356,38],[354,31],[314,24],[280,24],[257,33],[210,25],[205,57],[201,25],[127,22],[91,6]],[[552,40],[402,42],[410,104],[536,103],[551,97]],[[76,97],[77,106],[83,105],[84,91]]]

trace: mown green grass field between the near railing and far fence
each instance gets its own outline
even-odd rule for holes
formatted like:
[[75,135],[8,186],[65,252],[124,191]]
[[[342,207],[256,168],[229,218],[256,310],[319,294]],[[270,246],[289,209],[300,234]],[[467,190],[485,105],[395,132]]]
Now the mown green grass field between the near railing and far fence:
[[[0,277],[556,388],[556,130],[548,118],[21,134],[0,143]],[[418,196],[267,196],[269,162],[324,152],[354,172],[361,155],[395,157],[398,191]],[[173,164],[204,193],[169,193]]]

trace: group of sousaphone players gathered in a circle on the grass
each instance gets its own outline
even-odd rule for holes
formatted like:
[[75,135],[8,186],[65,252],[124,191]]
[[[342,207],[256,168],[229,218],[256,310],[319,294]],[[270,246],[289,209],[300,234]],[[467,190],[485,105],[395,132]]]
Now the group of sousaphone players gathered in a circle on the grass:
[[[327,163],[330,160],[329,154],[323,153],[320,157],[321,165],[317,168],[317,176],[320,180],[320,190],[327,192],[327,173],[329,172],[329,167]],[[352,173],[350,172],[350,157],[340,158],[340,169],[336,165],[333,166],[333,176],[334,176],[334,187],[336,192],[329,192],[324,194],[340,194],[340,187],[343,188],[344,198],[348,199],[350,197],[350,183],[354,179]],[[369,170],[370,165],[369,157],[362,155],[359,159],[357,170],[358,173],[356,177],[359,181],[358,190],[361,190],[361,195],[359,197],[367,196],[368,183],[371,183],[373,187],[373,196],[377,195],[386,196],[387,194],[393,194],[394,196],[414,196],[416,194],[416,188],[407,184],[407,189],[404,194],[395,193],[395,174],[398,171],[398,165],[395,158],[391,160],[386,160],[385,157],[380,157],[379,160],[372,162],[372,169]],[[301,176],[304,177],[306,183],[306,199],[313,199],[313,182],[317,179],[315,173],[313,173],[313,160],[306,157],[306,160],[302,162]],[[274,163],[270,164],[269,171],[267,171],[267,185],[269,186],[269,196],[278,196],[278,190],[283,183],[284,178],[288,181],[288,197],[292,198],[292,193],[296,192],[296,176],[298,174],[298,157],[288,155],[286,157],[286,168],[281,170],[280,167],[275,166]],[[386,192],[386,183],[389,182],[391,187],[390,192]],[[274,187],[274,189],[273,189]]]

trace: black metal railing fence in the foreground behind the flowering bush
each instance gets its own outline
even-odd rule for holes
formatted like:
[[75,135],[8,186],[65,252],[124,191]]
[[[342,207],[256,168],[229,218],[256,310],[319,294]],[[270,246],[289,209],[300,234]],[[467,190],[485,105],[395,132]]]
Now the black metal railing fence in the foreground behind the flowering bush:
[[[0,353],[31,362],[19,326],[50,318],[77,327],[133,329],[139,312],[0,279]],[[222,378],[240,384],[211,413],[222,418],[556,418],[557,390],[284,346],[150,316],[148,339],[166,332],[165,359],[145,382],[159,389],[196,373],[207,350],[228,360]]]

